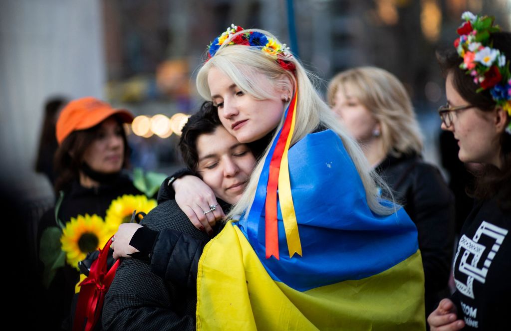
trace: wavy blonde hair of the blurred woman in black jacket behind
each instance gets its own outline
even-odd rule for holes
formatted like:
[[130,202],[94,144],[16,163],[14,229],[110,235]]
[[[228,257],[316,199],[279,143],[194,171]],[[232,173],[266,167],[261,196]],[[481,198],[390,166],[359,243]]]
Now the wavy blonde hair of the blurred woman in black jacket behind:
[[335,106],[335,94],[341,90],[355,97],[381,126],[385,154],[401,156],[423,149],[422,134],[405,87],[384,69],[358,67],[337,74],[328,86],[328,102]]

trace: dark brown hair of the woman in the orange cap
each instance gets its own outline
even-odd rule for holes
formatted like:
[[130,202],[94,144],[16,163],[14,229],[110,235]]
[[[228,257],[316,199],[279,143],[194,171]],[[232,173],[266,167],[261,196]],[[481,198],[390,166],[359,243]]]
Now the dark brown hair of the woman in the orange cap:
[[[113,117],[117,121],[122,130],[122,137],[124,141],[123,168],[126,168],[128,166],[130,155],[130,149],[126,140],[126,132],[124,131],[124,127],[120,119],[118,119],[115,115],[110,117]],[[107,119],[110,117],[107,117]],[[107,119],[103,120],[103,122]],[[59,177],[55,180],[55,192],[58,193],[61,190],[67,191],[71,183],[74,180],[79,179],[80,168],[82,167],[83,162],[83,154],[90,144],[97,138],[98,131],[103,122],[86,130],[73,131],[62,141],[57,152],[55,152],[54,159],[55,170],[59,174]]]

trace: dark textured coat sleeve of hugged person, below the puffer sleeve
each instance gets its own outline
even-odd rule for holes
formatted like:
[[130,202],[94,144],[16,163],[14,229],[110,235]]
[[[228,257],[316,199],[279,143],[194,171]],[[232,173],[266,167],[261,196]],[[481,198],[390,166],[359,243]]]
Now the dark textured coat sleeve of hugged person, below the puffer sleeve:
[[[137,259],[125,259],[106,293],[105,330],[195,330],[195,311],[178,288],[151,272]],[[179,302],[177,302],[179,301]]]

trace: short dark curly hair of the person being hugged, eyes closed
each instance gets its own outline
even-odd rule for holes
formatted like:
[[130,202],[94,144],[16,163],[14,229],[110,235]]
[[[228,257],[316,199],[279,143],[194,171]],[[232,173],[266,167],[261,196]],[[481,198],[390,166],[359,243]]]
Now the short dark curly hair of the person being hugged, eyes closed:
[[222,122],[218,118],[217,107],[213,106],[213,103],[210,101],[204,102],[200,110],[190,116],[187,124],[184,125],[181,131],[178,145],[183,161],[190,170],[195,172],[199,162],[197,138],[201,134],[215,132],[216,128],[221,125]]

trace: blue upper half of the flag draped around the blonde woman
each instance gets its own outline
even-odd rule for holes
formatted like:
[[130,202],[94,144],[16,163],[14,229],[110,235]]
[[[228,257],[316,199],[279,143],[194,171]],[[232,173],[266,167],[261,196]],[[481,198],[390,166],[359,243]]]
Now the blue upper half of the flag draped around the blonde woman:
[[280,204],[280,260],[265,257],[264,209],[254,217],[252,205],[250,216],[235,223],[274,280],[306,291],[378,274],[417,251],[417,231],[404,209],[389,216],[369,209],[355,165],[335,132],[308,134],[290,148],[289,173],[303,256],[289,258]]

